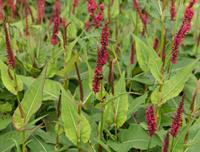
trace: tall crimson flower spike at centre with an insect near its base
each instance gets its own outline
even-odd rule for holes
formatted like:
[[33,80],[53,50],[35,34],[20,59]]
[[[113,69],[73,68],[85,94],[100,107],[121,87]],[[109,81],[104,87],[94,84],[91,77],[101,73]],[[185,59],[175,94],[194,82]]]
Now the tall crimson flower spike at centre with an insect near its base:
[[108,41],[109,41],[109,35],[110,35],[110,32],[108,28],[108,23],[105,23],[102,29],[101,48],[98,49],[96,67],[95,67],[94,77],[93,77],[94,93],[99,92],[100,81],[102,79],[102,74],[103,74],[103,65],[105,65],[108,60],[107,46],[108,46]]

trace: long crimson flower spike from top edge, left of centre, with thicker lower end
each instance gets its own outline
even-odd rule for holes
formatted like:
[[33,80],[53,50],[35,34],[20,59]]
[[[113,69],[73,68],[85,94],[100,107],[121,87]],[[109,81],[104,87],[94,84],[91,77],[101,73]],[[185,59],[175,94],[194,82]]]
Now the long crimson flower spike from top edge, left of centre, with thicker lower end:
[[58,43],[58,38],[57,34],[59,31],[59,26],[60,26],[60,9],[61,9],[61,3],[60,0],[55,0],[54,3],[54,12],[53,12],[53,34],[51,37],[51,44],[56,45]]

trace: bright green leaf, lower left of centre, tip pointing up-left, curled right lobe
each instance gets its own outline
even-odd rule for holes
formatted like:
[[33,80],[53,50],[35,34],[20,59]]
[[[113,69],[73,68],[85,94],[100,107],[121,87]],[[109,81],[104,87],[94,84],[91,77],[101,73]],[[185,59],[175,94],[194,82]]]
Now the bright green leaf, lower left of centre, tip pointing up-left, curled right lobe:
[[82,112],[81,115],[78,114],[73,97],[64,88],[61,88],[61,90],[61,118],[64,123],[65,134],[75,145],[78,144],[79,140],[86,143],[91,134],[90,124]]

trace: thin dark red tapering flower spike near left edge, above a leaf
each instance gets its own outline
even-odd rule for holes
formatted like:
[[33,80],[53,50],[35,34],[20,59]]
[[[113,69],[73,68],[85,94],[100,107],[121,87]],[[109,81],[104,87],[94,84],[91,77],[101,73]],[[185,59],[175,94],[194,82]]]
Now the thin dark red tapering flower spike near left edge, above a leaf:
[[16,67],[15,55],[11,48],[9,32],[6,23],[4,24],[4,31],[5,31],[6,51],[7,51],[7,64],[10,67],[15,68]]

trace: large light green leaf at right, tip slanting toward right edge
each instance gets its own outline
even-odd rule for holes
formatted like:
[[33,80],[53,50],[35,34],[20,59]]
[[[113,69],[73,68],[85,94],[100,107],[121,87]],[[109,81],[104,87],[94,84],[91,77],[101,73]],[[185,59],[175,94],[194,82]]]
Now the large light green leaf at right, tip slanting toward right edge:
[[187,65],[186,67],[179,70],[173,77],[165,81],[161,91],[159,86],[153,91],[151,95],[151,101],[154,104],[162,105],[167,100],[172,99],[179,95],[183,90],[185,82],[188,80],[193,67],[197,61]]

